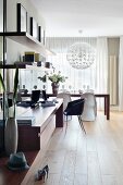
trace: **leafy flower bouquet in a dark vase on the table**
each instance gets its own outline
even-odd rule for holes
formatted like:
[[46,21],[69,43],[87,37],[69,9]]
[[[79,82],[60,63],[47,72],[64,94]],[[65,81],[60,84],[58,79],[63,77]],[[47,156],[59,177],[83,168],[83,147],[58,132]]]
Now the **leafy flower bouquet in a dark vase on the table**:
[[67,77],[66,76],[62,76],[61,72],[59,71],[58,74],[56,73],[51,73],[51,75],[48,76],[48,79],[51,81],[51,86],[52,86],[52,92],[54,95],[58,95],[58,90],[59,90],[59,83],[63,83],[65,82]]

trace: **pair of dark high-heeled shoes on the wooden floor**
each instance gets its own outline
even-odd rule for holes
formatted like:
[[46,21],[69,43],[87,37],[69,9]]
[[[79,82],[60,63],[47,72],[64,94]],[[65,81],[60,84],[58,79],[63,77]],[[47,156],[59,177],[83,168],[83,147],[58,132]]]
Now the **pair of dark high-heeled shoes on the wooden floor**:
[[41,170],[38,170],[35,180],[36,181],[42,180],[45,182],[46,174],[47,174],[47,178],[48,178],[48,172],[49,172],[49,166],[48,165],[44,166]]

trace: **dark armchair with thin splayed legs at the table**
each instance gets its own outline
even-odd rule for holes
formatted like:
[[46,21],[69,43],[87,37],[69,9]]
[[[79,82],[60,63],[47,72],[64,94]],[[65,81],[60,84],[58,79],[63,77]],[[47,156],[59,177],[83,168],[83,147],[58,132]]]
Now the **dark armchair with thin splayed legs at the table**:
[[82,130],[84,131],[84,133],[86,134],[86,131],[85,131],[84,124],[83,124],[83,120],[82,120],[84,102],[85,102],[85,99],[77,99],[74,101],[70,101],[67,103],[67,107],[64,110],[63,114],[66,116],[66,126],[67,126],[67,116],[69,115],[77,115],[79,125],[81,125]]

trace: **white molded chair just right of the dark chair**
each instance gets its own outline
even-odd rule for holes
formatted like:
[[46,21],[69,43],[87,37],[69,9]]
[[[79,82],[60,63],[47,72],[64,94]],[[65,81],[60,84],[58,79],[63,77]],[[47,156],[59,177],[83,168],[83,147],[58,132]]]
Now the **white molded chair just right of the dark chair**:
[[81,95],[81,98],[85,98],[82,120],[95,121],[97,116],[97,102],[95,95],[93,92],[85,92]]

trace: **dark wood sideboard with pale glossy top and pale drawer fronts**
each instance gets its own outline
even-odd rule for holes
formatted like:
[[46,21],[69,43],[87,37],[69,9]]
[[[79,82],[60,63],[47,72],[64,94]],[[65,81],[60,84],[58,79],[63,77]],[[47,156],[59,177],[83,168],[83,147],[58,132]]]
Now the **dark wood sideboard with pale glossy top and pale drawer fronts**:
[[48,141],[56,127],[63,126],[63,100],[59,99],[54,107],[17,108],[22,118],[35,118],[35,124],[19,125],[19,151],[40,150],[44,137]]

